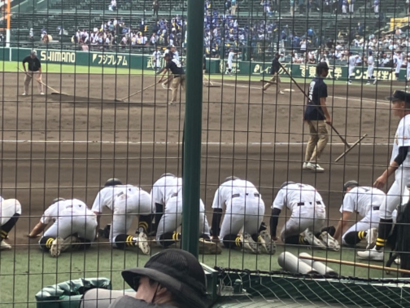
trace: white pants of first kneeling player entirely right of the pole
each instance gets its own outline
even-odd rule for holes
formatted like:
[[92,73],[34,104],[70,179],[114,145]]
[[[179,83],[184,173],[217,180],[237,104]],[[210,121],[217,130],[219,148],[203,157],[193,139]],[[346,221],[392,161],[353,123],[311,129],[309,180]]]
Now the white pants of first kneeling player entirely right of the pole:
[[219,237],[237,235],[243,228],[244,233],[257,234],[265,215],[265,204],[261,198],[249,194],[231,199],[221,224]]

